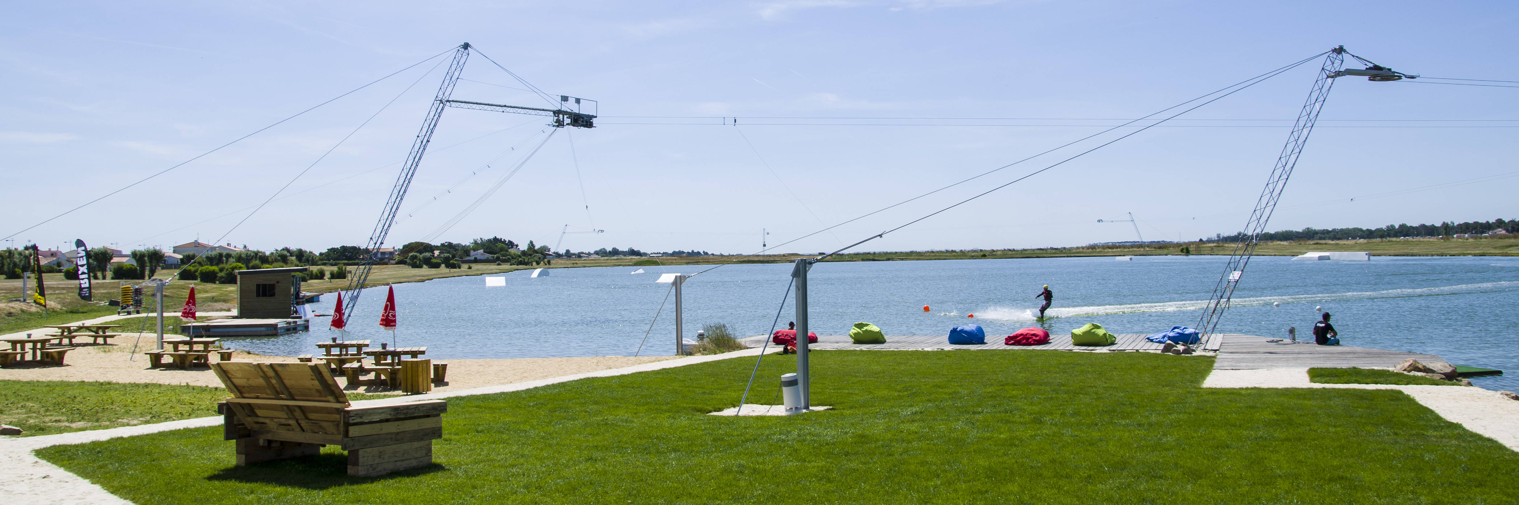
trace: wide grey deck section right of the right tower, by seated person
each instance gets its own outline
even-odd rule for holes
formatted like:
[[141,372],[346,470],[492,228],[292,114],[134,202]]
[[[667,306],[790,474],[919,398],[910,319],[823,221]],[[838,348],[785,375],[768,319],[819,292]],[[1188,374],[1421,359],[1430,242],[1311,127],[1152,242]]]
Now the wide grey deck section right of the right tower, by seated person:
[[1405,359],[1423,364],[1443,364],[1445,357],[1434,354],[1390,351],[1353,345],[1314,345],[1267,342],[1264,336],[1224,335],[1223,347],[1214,370],[1259,370],[1259,368],[1393,368]]

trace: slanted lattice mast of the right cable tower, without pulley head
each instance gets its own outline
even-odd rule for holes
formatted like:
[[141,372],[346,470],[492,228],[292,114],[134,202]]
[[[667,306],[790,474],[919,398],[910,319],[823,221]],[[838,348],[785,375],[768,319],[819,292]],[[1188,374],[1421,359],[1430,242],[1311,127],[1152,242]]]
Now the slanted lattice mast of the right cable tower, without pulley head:
[[1244,222],[1240,243],[1235,245],[1224,274],[1218,277],[1218,283],[1214,286],[1214,297],[1208,301],[1206,312],[1197,321],[1197,330],[1205,336],[1214,333],[1218,321],[1223,319],[1224,309],[1229,309],[1229,300],[1233,297],[1233,291],[1244,275],[1244,268],[1250,265],[1250,256],[1255,254],[1256,240],[1265,233],[1265,224],[1271,219],[1271,211],[1276,210],[1276,202],[1282,198],[1282,190],[1287,189],[1287,178],[1293,176],[1293,167],[1297,166],[1297,158],[1303,154],[1303,146],[1308,145],[1308,134],[1314,131],[1318,113],[1323,111],[1325,99],[1329,97],[1329,88],[1334,87],[1334,78],[1341,76],[1340,68],[1344,67],[1344,46],[1331,49],[1325,55],[1318,79],[1314,81],[1312,90],[1308,91],[1308,102],[1297,113],[1297,122],[1293,123],[1293,132],[1287,135],[1282,154],[1276,157],[1271,176],[1265,179],[1265,189],[1261,190],[1261,198],[1256,199],[1255,210],[1250,211],[1250,219]]

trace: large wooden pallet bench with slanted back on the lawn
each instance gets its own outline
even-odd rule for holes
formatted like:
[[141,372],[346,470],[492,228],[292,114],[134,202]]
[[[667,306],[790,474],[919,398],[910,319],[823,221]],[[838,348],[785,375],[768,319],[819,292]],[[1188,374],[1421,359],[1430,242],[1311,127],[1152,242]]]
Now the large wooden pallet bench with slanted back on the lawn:
[[355,408],[324,364],[220,362],[211,367],[232,397],[217,405],[237,465],[348,452],[349,476],[380,476],[433,462],[448,402]]

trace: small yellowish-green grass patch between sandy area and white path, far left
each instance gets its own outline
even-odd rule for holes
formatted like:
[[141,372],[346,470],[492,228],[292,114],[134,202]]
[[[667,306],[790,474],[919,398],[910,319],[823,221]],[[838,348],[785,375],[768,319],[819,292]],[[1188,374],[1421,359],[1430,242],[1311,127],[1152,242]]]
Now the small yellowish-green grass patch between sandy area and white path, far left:
[[[225,388],[163,383],[0,380],[0,423],[21,437],[150,424],[216,415]],[[349,400],[383,395],[348,394]]]

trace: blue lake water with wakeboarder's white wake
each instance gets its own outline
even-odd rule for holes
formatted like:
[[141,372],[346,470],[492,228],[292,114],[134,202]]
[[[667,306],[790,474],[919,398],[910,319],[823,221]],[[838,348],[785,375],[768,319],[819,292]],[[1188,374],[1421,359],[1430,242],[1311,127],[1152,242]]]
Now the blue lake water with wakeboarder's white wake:
[[[817,333],[846,333],[869,321],[890,335],[940,335],[980,324],[987,335],[1034,326],[1034,294],[1056,294],[1045,322],[1069,332],[1098,322],[1113,333],[1153,333],[1195,326],[1224,257],[1112,257],[822,263],[810,274],[811,324]],[[693,274],[706,266],[567,268],[530,278],[504,275],[395,284],[396,345],[427,345],[428,357],[632,356],[674,351],[674,301],[650,322],[668,284],[661,272]],[[729,265],[685,284],[685,332],[725,322],[740,335],[770,329],[791,265]],[[378,327],[386,289],[368,289],[349,316],[349,339],[389,342]],[[330,313],[336,295],[316,304]],[[1334,313],[1346,345],[1440,354],[1458,365],[1501,368],[1508,377],[1473,379],[1486,388],[1519,389],[1519,257],[1373,257],[1370,262],[1252,260],[1220,332],[1312,338],[1314,307]],[[1281,303],[1281,306],[1273,306]],[[931,312],[924,312],[930,306]],[[794,316],[790,300],[781,327]],[[975,313],[968,319],[968,313]],[[234,338],[228,344],[267,354],[307,354],[337,336],[327,318],[313,330],[278,338]],[[639,351],[639,344],[643,350]]]

